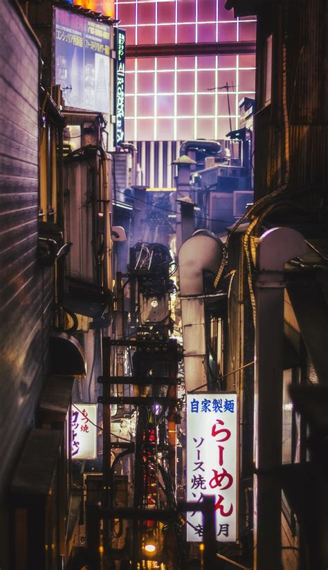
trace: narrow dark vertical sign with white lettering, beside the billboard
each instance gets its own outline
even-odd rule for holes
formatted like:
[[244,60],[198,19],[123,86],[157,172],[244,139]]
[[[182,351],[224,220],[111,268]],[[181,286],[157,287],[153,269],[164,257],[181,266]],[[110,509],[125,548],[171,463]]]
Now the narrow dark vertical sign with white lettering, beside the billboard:
[[116,28],[116,125],[114,146],[118,147],[124,142],[125,118],[125,30]]

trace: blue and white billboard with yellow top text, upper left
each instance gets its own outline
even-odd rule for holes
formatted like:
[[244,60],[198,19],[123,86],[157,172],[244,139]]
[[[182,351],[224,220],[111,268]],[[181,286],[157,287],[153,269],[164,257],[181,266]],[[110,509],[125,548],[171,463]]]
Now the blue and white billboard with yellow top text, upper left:
[[109,113],[110,29],[55,9],[55,83],[66,107]]

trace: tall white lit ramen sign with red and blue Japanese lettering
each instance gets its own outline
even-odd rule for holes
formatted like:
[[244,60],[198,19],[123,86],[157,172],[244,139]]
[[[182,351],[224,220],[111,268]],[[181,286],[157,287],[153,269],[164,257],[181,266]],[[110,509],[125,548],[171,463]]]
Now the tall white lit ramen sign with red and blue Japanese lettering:
[[[237,395],[187,394],[187,501],[215,496],[219,542],[237,540]],[[203,542],[203,515],[187,513],[187,540]]]

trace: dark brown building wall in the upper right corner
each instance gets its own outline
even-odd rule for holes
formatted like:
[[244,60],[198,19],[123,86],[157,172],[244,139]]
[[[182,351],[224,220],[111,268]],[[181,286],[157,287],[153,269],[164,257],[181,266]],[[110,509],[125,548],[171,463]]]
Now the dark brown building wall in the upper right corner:
[[[289,116],[289,188],[328,187],[327,2],[282,1],[281,10],[264,7],[258,30],[259,52],[273,33],[271,106],[259,109],[261,57],[257,57],[255,117],[255,198],[284,183],[282,41],[286,38],[286,102]],[[281,26],[281,27],[280,27]],[[286,35],[285,35],[286,32]],[[298,198],[298,201],[300,199]],[[302,200],[301,200],[302,201]],[[309,199],[306,199],[309,203]],[[311,203],[320,203],[313,194]]]

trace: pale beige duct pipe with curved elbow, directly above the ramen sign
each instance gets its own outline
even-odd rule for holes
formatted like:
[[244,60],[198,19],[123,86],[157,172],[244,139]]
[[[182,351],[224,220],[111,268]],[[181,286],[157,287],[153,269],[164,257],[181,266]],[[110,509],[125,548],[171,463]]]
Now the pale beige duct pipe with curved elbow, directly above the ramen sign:
[[[221,241],[207,230],[195,232],[179,250],[179,287],[186,392],[208,382],[203,272],[210,271],[215,275],[221,263],[222,250]],[[190,298],[192,295],[199,295],[199,297]],[[205,392],[206,387],[202,390]]]

